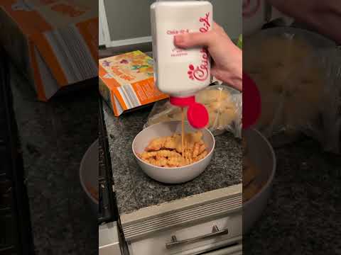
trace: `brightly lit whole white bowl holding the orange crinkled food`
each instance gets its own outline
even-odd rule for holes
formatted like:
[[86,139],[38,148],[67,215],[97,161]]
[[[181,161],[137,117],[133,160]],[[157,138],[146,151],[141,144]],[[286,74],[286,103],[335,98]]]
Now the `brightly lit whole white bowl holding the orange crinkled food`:
[[[181,167],[160,167],[148,164],[137,157],[136,153],[144,152],[144,149],[154,138],[173,135],[175,132],[181,133],[180,121],[158,123],[139,132],[133,141],[132,149],[134,157],[139,166],[141,166],[141,169],[149,177],[162,183],[184,183],[195,179],[210,164],[213,150],[215,149],[215,137],[212,135],[212,132],[207,129],[202,129],[202,140],[205,142],[208,154],[198,162]],[[185,132],[195,132],[195,129],[191,128],[188,123],[185,123]]]

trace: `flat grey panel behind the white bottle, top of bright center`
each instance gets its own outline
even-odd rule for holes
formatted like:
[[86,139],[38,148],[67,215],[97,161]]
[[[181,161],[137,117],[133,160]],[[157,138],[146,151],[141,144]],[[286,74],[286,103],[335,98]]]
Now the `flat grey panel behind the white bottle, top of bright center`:
[[[150,41],[149,7],[154,0],[104,0],[112,46]],[[215,21],[232,38],[242,33],[242,0],[209,0]],[[140,40],[136,40],[140,38]],[[133,40],[131,40],[133,39]],[[116,43],[115,43],[116,42]]]

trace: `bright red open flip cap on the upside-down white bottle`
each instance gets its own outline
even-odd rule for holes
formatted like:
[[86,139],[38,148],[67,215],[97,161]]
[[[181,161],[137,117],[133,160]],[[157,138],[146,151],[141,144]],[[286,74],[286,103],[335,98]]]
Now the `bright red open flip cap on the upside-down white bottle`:
[[195,96],[186,98],[171,96],[169,101],[173,106],[188,107],[187,118],[193,128],[205,128],[208,124],[208,112],[204,105],[195,102]]

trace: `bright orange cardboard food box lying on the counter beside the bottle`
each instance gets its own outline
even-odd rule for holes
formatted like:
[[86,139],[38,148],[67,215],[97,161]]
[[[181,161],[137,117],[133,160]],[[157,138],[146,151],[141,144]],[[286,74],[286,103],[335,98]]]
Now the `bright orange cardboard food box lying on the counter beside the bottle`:
[[99,93],[115,116],[168,98],[154,85],[153,59],[139,50],[99,60]]

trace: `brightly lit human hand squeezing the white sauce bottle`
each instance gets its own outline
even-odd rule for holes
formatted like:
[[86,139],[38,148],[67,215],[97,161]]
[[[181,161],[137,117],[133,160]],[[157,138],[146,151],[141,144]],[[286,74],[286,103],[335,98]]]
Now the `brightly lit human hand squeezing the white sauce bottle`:
[[234,89],[242,91],[242,50],[234,45],[217,23],[214,23],[212,30],[206,33],[175,35],[174,44],[180,48],[207,47],[214,60],[211,74]]

